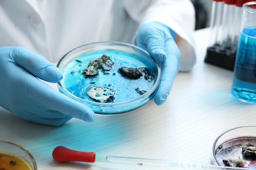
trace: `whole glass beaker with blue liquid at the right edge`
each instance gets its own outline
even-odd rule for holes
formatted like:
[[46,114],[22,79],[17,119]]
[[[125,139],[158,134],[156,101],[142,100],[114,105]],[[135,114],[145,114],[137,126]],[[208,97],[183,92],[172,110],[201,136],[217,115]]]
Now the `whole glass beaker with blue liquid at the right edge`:
[[256,1],[243,5],[232,94],[246,103],[256,103]]

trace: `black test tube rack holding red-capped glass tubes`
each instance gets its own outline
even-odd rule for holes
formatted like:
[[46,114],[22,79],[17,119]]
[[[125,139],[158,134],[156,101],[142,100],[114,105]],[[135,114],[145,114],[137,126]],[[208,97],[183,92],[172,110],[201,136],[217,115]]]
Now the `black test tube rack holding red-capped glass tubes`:
[[242,5],[250,0],[213,0],[211,7],[211,38],[205,63],[234,71]]

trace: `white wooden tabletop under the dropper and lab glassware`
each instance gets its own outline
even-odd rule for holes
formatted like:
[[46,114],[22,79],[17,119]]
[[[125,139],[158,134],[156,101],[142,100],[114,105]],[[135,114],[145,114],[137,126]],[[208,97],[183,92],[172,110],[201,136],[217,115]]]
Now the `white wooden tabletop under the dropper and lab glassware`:
[[196,65],[177,75],[163,105],[151,101],[126,114],[97,115],[93,123],[74,118],[61,127],[25,122],[0,108],[0,140],[29,150],[38,169],[149,169],[119,163],[57,163],[52,152],[59,145],[96,156],[210,163],[218,135],[232,127],[255,125],[256,109],[230,93],[232,71],[203,62],[209,29],[196,31],[194,37]]

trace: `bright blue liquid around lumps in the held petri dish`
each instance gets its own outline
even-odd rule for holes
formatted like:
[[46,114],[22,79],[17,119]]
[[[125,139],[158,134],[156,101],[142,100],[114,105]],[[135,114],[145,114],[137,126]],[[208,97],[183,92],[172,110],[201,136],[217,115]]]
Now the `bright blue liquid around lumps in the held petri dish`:
[[[110,59],[114,61],[112,70],[108,71],[109,74],[104,74],[102,69],[99,69],[99,74],[96,76],[83,75],[83,69],[87,69],[89,61],[98,59],[103,54],[110,56]],[[139,56],[116,50],[104,50],[84,54],[68,63],[64,68],[61,84],[68,90],[68,92],[88,101],[94,101],[87,95],[87,92],[91,87],[103,86],[113,88],[116,91],[116,95],[114,101],[111,101],[110,103],[119,103],[129,101],[130,99],[136,99],[141,95],[136,91],[136,88],[148,92],[148,90],[154,86],[155,81],[149,82],[148,80],[145,80],[144,77],[136,80],[123,77],[118,69],[124,66],[146,67],[150,75],[154,75],[155,72],[154,69],[149,68],[146,61],[141,61]],[[156,76],[157,75],[154,75],[154,77]]]

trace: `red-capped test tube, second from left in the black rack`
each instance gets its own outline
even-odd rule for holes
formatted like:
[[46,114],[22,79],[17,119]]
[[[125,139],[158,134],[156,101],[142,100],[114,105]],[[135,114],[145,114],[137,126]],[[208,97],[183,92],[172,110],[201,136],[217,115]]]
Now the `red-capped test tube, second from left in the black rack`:
[[[234,8],[236,0],[224,0],[223,16],[222,16],[222,31],[219,36],[221,42],[221,50],[228,52],[232,47],[232,26],[234,25]],[[229,53],[229,52],[228,52]]]

